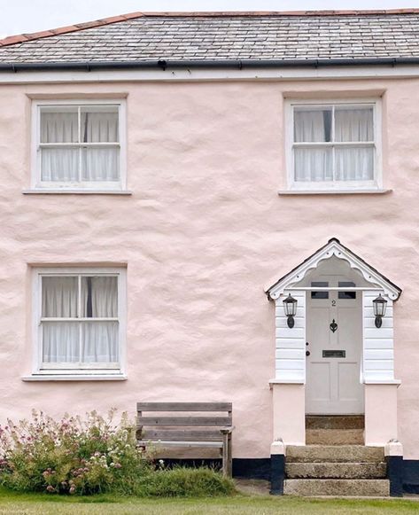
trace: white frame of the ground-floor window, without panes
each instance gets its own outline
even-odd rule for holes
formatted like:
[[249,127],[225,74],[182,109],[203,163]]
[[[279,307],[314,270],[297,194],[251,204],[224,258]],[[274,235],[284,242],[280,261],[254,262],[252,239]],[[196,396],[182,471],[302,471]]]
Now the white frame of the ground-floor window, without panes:
[[[126,338],[127,338],[127,269],[122,267],[39,267],[32,270],[32,335],[33,335],[33,367],[32,374],[38,376],[79,376],[125,375]],[[43,327],[42,327],[42,280],[43,277],[81,277],[112,276],[118,278],[118,317],[119,322],[119,363],[85,363],[74,366],[74,363],[43,363]],[[80,297],[80,291],[79,291]],[[80,302],[80,300],[79,300]],[[66,321],[66,318],[60,318]],[[72,318],[71,320],[74,320]],[[79,321],[91,321],[78,318]],[[106,319],[111,320],[111,319]],[[112,319],[113,320],[113,319]]]

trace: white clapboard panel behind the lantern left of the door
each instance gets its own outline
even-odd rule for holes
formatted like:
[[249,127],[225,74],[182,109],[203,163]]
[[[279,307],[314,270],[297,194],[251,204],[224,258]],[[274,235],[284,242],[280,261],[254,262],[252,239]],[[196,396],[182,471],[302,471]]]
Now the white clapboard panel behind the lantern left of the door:
[[[294,327],[287,325],[283,299],[291,293],[297,300]],[[306,293],[285,292],[275,300],[275,378],[284,383],[306,382]]]

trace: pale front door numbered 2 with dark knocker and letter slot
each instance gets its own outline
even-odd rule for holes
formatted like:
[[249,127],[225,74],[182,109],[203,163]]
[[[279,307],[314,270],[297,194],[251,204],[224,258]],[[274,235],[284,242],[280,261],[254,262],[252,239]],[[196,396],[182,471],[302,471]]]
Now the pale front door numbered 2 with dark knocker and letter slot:
[[[322,277],[312,285],[354,284]],[[308,292],[306,342],[306,413],[363,413],[361,292]]]

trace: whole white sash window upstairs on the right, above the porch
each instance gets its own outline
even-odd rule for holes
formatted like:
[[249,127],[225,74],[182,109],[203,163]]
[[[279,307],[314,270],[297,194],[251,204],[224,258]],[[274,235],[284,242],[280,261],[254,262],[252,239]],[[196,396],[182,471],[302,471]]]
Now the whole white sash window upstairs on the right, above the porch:
[[381,183],[381,117],[377,101],[289,105],[289,188],[377,190]]

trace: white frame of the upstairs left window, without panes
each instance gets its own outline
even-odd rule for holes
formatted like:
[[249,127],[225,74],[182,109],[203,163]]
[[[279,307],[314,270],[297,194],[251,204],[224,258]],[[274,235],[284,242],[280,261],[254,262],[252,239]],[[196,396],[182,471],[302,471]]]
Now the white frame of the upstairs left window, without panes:
[[[81,181],[58,182],[43,181],[41,176],[41,108],[44,106],[94,106],[112,105],[118,107],[119,148],[120,148],[120,180],[119,181]],[[80,129],[79,129],[80,130]],[[47,144],[43,144],[47,145]],[[65,144],[64,144],[65,145]],[[72,144],[68,144],[72,146]],[[75,144],[73,146],[79,146]],[[97,144],[81,144],[81,146]],[[116,145],[113,145],[116,146]],[[85,99],[48,99],[32,101],[31,124],[31,190],[32,191],[126,191],[127,188],[127,108],[124,98],[85,98]]]

